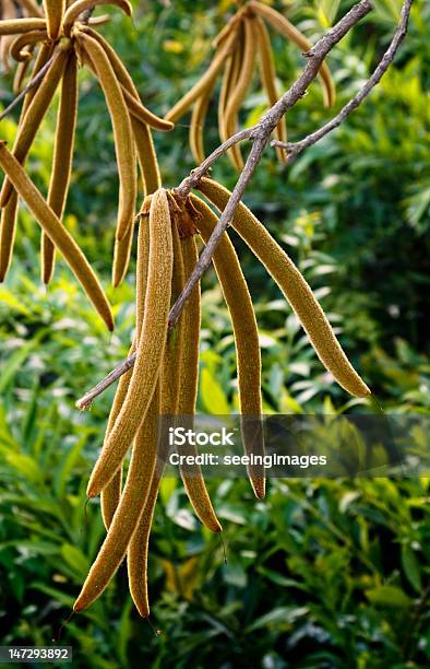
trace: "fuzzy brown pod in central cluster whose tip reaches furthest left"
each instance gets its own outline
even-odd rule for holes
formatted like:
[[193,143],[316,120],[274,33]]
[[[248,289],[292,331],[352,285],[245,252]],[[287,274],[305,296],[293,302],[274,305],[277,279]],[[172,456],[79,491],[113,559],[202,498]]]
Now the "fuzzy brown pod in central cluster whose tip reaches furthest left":
[[134,439],[127,481],[118,507],[107,537],[74,602],[74,611],[86,609],[101,595],[124,559],[130,539],[144,512],[157,458],[159,392],[158,384],[156,386]]

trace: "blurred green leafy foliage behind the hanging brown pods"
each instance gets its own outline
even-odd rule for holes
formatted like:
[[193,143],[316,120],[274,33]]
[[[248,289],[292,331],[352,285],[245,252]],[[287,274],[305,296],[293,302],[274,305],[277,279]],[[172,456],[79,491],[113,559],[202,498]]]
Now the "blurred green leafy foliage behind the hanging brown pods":
[[[272,2],[315,38],[351,4]],[[112,12],[103,32],[151,108],[164,114],[204,70],[211,39],[232,3],[135,2],[134,23]],[[330,56],[339,108],[386,46],[399,0],[375,12]],[[336,13],[337,12],[337,13]],[[246,200],[288,249],[335,324],[349,356],[385,411],[428,412],[429,361],[429,4],[416,0],[396,64],[341,129],[290,167],[270,150]],[[280,82],[302,67],[274,39]],[[1,101],[11,99],[2,75]],[[264,110],[254,87],[243,124]],[[319,84],[288,115],[289,136],[330,118]],[[1,122],[13,138],[15,118]],[[193,167],[188,118],[155,140],[166,186]],[[49,178],[55,114],[29,169]],[[217,144],[210,110],[207,149]],[[67,225],[101,275],[115,305],[108,334],[60,263],[39,281],[39,231],[20,216],[17,253],[0,286],[0,627],[2,644],[49,644],[71,609],[103,538],[85,486],[111,391],[80,414],[74,401],[126,355],[133,328],[133,272],[109,287],[117,173],[112,136],[96,83],[81,73],[73,188]],[[227,161],[214,176],[235,183]],[[280,293],[235,238],[255,304],[267,413],[372,411],[332,383]],[[199,409],[237,410],[231,327],[219,287],[204,279]],[[123,568],[62,642],[76,667],[427,667],[430,664],[428,479],[272,480],[264,502],[244,480],[210,481],[219,537],[192,516],[179,481],[166,479],[150,560],[155,635],[133,611]]]

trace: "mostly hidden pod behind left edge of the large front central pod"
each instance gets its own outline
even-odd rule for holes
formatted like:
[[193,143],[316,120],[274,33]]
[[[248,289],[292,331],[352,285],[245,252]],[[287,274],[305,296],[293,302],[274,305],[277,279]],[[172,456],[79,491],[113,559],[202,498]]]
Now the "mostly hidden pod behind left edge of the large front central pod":
[[[147,285],[147,266],[150,258],[150,228],[147,216],[140,216],[139,225],[139,237],[138,237],[138,260],[136,260],[136,295],[135,295],[135,309],[136,309],[136,322],[134,341],[129,351],[129,355],[135,350],[135,341],[139,340],[142,331],[143,316],[145,310],[145,293]],[[130,385],[132,371],[129,369],[121,376],[118,383],[117,391],[115,394],[114,403],[110,410],[109,420],[106,429],[106,436],[110,434],[115,421],[117,420],[119,412],[124,403],[127,392]],[[106,438],[106,437],[105,437]],[[103,489],[100,494],[101,515],[105,523],[106,529],[109,528],[114,514],[119,503],[121,494],[121,481],[122,481],[122,467],[118,469],[114,478]]]

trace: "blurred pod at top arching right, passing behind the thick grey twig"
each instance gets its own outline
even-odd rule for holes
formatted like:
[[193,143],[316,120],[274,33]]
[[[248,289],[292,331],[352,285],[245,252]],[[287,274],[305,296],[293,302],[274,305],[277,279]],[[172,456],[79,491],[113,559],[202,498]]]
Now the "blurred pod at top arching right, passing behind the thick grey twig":
[[[309,39],[304,37],[304,35],[300,33],[300,31],[298,31],[297,27],[288,21],[288,19],[274,10],[272,7],[263,4],[258,0],[251,0],[249,7],[253,9],[262,19],[265,19],[272,25],[272,27],[275,28],[275,31],[287,37],[287,39],[291,39],[302,51],[306,52],[312,48],[312,44],[309,42]],[[336,98],[336,89],[325,62],[321,64],[319,74],[323,83],[324,105],[326,107],[332,107]]]

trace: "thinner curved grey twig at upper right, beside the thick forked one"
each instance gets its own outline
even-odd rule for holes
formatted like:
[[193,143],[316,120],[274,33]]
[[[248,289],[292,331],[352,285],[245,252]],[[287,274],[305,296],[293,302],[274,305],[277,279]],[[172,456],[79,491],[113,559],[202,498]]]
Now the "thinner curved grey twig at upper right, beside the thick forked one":
[[369,95],[369,93],[374,89],[374,86],[381,81],[382,77],[385,74],[386,70],[393,62],[395,55],[401,46],[406,33],[407,26],[410,15],[410,9],[414,0],[405,0],[402,7],[401,20],[397,26],[396,32],[394,33],[393,39],[386,49],[385,54],[381,58],[379,64],[374,69],[372,75],[367,80],[367,82],[361,86],[359,92],[353,99],[350,99],[345,107],[341,109],[341,111],[332,118],[331,121],[322,126],[315,132],[308,134],[304,139],[299,142],[280,142],[279,140],[272,140],[271,146],[280,146],[282,149],[286,149],[288,153],[288,159],[294,160],[299,153],[301,153],[308,146],[315,144],[323,137],[332,132],[335,128],[338,128],[341,124],[354,111],[357,107],[362,103],[362,101]]

